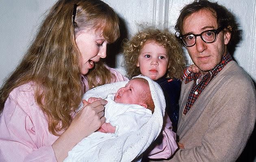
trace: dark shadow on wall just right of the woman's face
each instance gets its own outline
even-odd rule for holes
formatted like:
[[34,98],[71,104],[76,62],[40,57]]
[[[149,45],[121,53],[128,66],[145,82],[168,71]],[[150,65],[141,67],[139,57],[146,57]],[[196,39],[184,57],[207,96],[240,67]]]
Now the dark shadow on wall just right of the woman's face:
[[107,57],[104,59],[104,62],[106,62],[106,64],[108,66],[110,66],[111,68],[115,68],[116,67],[116,55],[123,52],[123,48],[122,48],[122,42],[124,40],[124,38],[127,38],[127,28],[126,28],[126,24],[124,22],[124,19],[121,19],[119,17],[119,28],[120,28],[120,37],[117,39],[117,41],[115,43],[109,44],[107,46]]

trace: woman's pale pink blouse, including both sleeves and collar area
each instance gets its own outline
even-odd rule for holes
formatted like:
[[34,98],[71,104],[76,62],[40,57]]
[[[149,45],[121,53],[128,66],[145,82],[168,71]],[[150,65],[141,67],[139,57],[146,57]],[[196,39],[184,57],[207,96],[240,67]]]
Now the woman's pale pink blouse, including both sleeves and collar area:
[[[128,80],[115,69],[110,70],[117,77],[115,81]],[[82,80],[87,87],[86,78]],[[29,82],[15,88],[4,104],[0,116],[0,162],[57,161],[52,143],[59,136],[48,130],[47,117],[34,98],[33,84]],[[175,133],[168,124],[163,129],[163,136],[163,143],[149,153],[150,158],[164,158],[175,151]]]

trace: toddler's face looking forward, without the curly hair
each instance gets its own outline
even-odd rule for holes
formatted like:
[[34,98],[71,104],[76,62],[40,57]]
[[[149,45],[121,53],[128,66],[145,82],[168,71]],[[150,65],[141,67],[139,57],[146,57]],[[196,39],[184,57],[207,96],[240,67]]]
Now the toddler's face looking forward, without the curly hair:
[[137,62],[141,74],[152,80],[157,80],[165,75],[168,64],[167,50],[154,41],[146,41]]

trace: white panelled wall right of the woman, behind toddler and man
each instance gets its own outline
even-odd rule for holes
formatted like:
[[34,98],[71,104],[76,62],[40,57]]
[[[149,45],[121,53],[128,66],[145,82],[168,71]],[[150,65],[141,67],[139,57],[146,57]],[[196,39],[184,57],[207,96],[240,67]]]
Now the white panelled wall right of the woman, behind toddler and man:
[[[137,32],[136,23],[146,21],[159,28],[169,28],[174,31],[174,25],[179,11],[185,4],[193,0],[104,0],[110,4],[122,17],[128,28],[128,34]],[[238,64],[256,82],[256,2],[255,0],[215,0],[223,4],[234,13],[243,30],[243,40],[239,43],[234,53]],[[186,50],[185,50],[186,51]],[[192,61],[186,54],[188,64]],[[121,54],[118,61],[122,61]],[[117,64],[117,69],[124,71]]]

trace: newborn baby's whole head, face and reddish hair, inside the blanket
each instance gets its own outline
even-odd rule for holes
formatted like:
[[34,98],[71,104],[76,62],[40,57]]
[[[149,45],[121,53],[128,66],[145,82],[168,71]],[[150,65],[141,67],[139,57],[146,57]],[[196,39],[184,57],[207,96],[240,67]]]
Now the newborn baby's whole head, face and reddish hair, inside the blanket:
[[131,79],[125,87],[121,87],[115,94],[115,102],[124,104],[139,104],[154,112],[148,81],[143,78]]

